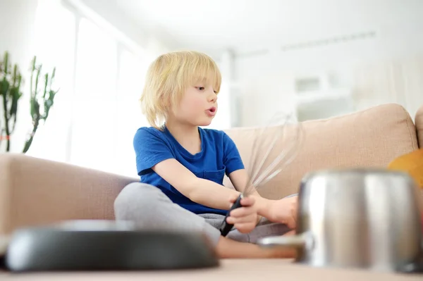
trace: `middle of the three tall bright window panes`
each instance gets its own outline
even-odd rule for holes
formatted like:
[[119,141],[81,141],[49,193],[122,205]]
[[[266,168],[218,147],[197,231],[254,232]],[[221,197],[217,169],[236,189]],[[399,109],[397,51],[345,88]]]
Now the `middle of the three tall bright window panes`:
[[70,161],[112,170],[117,87],[116,42],[82,18],[76,47]]

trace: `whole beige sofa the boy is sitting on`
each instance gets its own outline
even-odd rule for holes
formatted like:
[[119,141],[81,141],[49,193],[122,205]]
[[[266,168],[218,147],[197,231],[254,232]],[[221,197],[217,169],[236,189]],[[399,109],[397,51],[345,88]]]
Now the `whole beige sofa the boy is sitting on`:
[[[298,157],[283,173],[259,189],[263,196],[274,199],[297,192],[301,177],[312,170],[386,167],[397,156],[418,149],[418,142],[423,143],[423,107],[415,121],[402,106],[384,104],[302,125],[305,143]],[[236,128],[227,132],[248,166],[251,136],[257,135],[260,129]],[[269,139],[273,133],[266,132],[259,137]],[[292,134],[288,134],[289,137]],[[284,142],[280,142],[273,152],[283,146]],[[113,220],[114,199],[125,185],[137,180],[20,154],[0,154],[0,235],[18,227],[58,220]],[[227,179],[225,183],[231,187]],[[235,268],[245,266],[235,261],[225,261],[225,264],[226,268],[228,264]],[[274,262],[266,263],[265,267],[269,264]],[[289,270],[297,271],[288,267]],[[328,273],[329,276],[333,275]],[[360,275],[355,275],[357,277]]]

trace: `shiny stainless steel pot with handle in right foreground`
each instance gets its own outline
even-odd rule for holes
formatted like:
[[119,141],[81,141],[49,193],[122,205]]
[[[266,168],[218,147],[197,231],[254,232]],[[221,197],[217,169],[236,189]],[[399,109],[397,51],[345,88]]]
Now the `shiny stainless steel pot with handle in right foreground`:
[[303,178],[298,200],[297,235],[266,237],[260,245],[295,247],[296,261],[310,266],[422,266],[422,192],[405,173],[318,171]]

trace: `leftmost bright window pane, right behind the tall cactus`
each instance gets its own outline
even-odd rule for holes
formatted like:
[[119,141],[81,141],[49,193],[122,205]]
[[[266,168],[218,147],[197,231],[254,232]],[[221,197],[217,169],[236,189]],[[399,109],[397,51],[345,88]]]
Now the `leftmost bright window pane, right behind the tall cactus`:
[[[52,24],[54,23],[54,24]],[[49,118],[39,126],[28,155],[54,161],[67,161],[68,128],[71,125],[73,76],[75,62],[76,17],[54,0],[39,1],[35,18],[34,53],[43,72],[56,67],[54,87],[59,93],[54,99]],[[28,66],[30,63],[28,62]],[[29,81],[25,85],[28,86]],[[27,100],[23,101],[27,106]],[[21,108],[29,112],[29,108]],[[30,116],[27,116],[30,118]],[[30,123],[30,120],[25,121]],[[25,130],[30,131],[30,127]]]

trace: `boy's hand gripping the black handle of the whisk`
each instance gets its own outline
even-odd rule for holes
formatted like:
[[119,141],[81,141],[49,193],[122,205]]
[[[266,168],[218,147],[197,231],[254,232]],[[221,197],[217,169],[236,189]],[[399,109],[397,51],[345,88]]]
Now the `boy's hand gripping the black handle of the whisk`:
[[[231,199],[231,203],[235,203],[237,198]],[[255,199],[246,197],[241,199],[240,203],[242,207],[232,210],[226,218],[226,222],[234,225],[239,232],[248,233],[255,229],[257,225],[258,215],[255,208]]]

